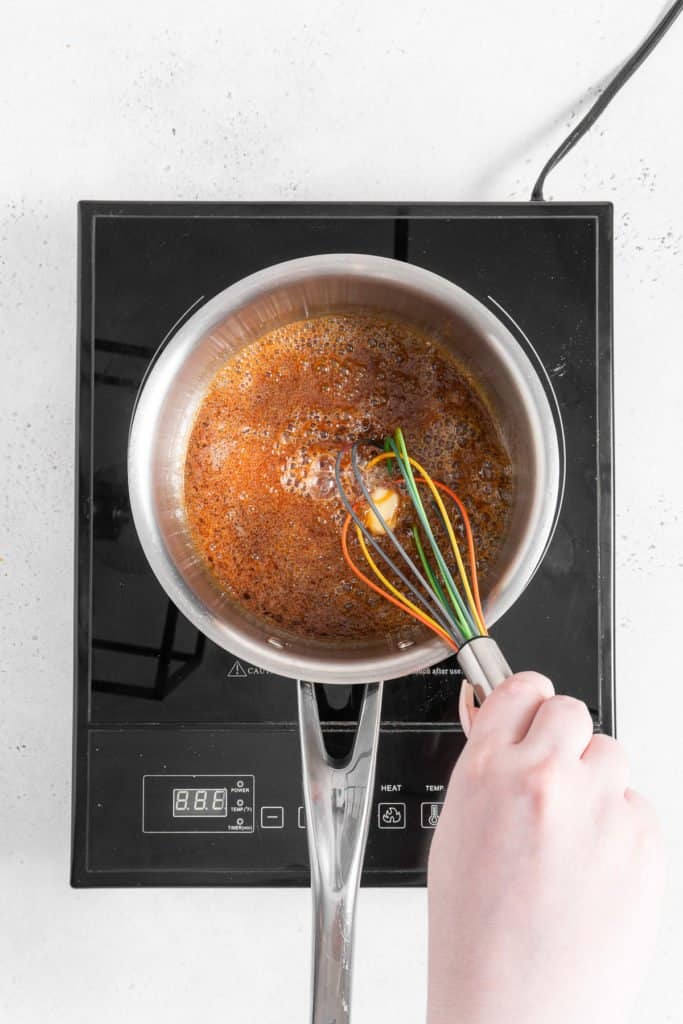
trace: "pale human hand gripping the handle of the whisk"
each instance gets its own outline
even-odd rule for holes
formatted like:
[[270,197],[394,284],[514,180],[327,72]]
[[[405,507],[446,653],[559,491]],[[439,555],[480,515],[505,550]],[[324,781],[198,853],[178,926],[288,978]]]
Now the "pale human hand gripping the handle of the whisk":
[[476,712],[429,857],[429,1024],[623,1024],[663,845],[584,703],[519,673]]

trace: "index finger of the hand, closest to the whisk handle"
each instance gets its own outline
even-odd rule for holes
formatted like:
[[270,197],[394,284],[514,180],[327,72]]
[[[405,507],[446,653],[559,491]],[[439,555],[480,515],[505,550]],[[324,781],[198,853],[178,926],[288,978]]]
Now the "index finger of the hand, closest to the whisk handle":
[[498,686],[472,721],[471,740],[496,736],[503,743],[518,743],[539,708],[555,690],[538,672],[518,672]]

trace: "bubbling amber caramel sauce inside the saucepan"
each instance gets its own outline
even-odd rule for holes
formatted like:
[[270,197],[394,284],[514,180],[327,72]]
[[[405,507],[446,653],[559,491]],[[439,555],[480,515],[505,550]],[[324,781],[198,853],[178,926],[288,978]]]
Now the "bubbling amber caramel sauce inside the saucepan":
[[[464,501],[485,593],[509,520],[510,458],[441,345],[377,314],[317,316],[269,332],[216,374],[187,446],[185,511],[217,586],[266,629],[331,642],[422,635],[355,579],[340,544],[337,453],[397,426],[411,455]],[[372,454],[361,449],[362,461]],[[383,466],[371,475],[395,485]],[[407,544],[413,519],[403,495]],[[361,563],[357,543],[351,551]]]

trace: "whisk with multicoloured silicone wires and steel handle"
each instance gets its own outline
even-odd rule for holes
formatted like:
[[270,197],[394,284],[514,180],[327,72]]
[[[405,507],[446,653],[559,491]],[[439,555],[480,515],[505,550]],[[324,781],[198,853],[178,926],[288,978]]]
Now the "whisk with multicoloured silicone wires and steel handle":
[[[467,510],[451,487],[433,479],[411,457],[400,427],[384,438],[383,447],[371,444],[378,454],[361,465],[359,450],[365,452],[368,446],[368,442],[356,442],[339,453],[335,465],[337,488],[347,512],[341,536],[344,559],[364,584],[418,620],[456,652],[481,703],[512,670],[486,629]],[[349,460],[347,467],[345,458]],[[371,476],[377,477],[372,471],[382,465],[385,478],[371,483]],[[345,477],[354,494],[345,486]],[[405,501],[412,506],[409,544],[399,540],[395,528]],[[462,523],[465,558],[449,506],[455,508]],[[353,560],[351,529],[372,575]]]

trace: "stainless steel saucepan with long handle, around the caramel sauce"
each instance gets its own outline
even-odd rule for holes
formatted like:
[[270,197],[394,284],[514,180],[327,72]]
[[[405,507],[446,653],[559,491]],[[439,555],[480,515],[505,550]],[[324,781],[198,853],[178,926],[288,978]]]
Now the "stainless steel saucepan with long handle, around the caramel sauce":
[[[522,593],[552,532],[560,453],[544,387],[513,335],[467,292],[427,270],[367,255],[325,255],[268,267],[203,305],[161,353],[131,425],[128,485],[142,548],[179,610],[238,657],[298,681],[299,724],[313,894],[314,1024],[349,1019],[353,909],[372,807],[382,680],[441,660],[437,638],[405,647],[293,639],[243,614],[222,596],[193,546],[183,467],[195,415],[219,367],[265,332],[328,312],[375,310],[424,330],[479,384],[501,424],[513,466],[508,537],[485,600],[494,623]],[[329,757],[315,682],[362,684],[351,753]],[[258,685],[254,683],[254,685]]]

